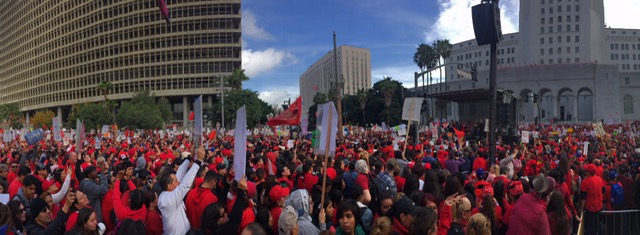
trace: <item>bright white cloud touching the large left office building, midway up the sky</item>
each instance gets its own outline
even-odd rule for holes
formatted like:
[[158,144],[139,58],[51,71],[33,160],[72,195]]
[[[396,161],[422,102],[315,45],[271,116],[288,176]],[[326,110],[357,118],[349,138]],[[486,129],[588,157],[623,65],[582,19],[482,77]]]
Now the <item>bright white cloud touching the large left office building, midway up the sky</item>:
[[242,50],[242,68],[249,77],[267,73],[287,61],[297,63],[298,60],[293,54],[274,48]]

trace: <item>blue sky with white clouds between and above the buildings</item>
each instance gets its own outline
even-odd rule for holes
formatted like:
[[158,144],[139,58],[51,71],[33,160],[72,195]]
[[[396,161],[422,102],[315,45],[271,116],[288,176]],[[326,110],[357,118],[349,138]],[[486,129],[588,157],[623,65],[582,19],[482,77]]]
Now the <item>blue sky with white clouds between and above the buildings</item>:
[[[535,0],[537,1],[537,0]],[[415,48],[436,39],[473,38],[471,6],[479,0],[244,0],[245,88],[270,104],[299,95],[299,76],[338,45],[371,49],[372,81],[411,83]],[[640,0],[604,0],[613,28],[640,28]],[[500,1],[504,33],[518,31],[519,0]]]

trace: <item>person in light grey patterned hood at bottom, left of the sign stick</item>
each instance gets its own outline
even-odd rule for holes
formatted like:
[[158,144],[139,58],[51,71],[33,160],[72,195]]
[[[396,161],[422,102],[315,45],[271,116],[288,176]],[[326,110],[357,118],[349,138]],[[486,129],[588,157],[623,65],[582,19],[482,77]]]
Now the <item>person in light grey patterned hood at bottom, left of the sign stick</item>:
[[292,206],[298,212],[298,227],[300,234],[318,234],[320,230],[311,222],[313,201],[305,189],[298,189],[289,195],[286,206]]

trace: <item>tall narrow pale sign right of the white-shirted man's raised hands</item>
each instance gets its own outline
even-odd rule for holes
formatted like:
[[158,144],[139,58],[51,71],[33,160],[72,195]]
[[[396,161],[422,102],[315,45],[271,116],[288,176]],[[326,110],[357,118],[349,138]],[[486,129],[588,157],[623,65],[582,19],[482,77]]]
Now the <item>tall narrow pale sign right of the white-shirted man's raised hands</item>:
[[236,129],[233,142],[233,169],[235,180],[244,176],[247,165],[247,109],[243,105],[236,113]]

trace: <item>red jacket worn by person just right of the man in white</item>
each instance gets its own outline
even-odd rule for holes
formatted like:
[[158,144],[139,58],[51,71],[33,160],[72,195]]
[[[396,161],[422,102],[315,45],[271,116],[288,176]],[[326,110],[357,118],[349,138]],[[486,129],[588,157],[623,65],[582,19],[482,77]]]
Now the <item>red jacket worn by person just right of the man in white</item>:
[[216,202],[218,202],[218,198],[211,192],[211,189],[196,187],[189,191],[184,205],[192,228],[200,228],[204,208]]

